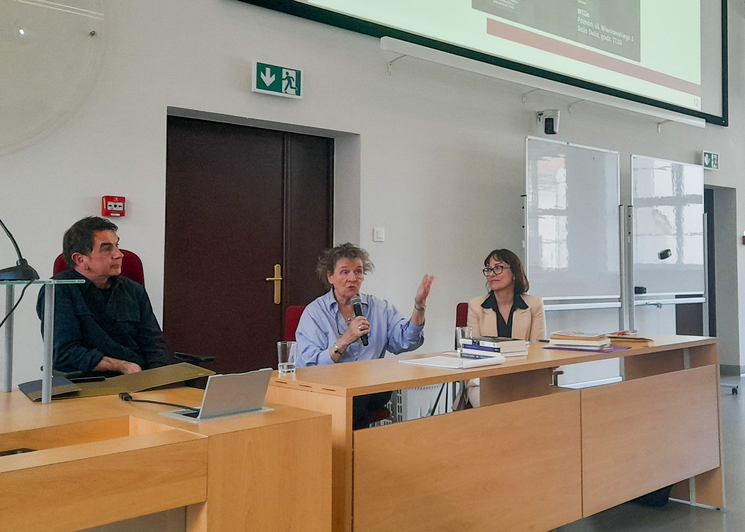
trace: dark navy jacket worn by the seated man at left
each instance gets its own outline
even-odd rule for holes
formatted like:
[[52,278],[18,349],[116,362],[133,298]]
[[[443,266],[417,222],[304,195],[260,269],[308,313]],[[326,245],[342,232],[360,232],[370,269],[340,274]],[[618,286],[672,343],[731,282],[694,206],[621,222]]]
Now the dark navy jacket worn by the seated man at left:
[[[168,364],[168,347],[144,286],[124,276],[112,277],[107,301],[104,291],[75,270],[53,279],[86,281],[54,288],[55,370],[92,371],[104,356],[134,362],[143,370]],[[37,300],[42,335],[45,288]]]

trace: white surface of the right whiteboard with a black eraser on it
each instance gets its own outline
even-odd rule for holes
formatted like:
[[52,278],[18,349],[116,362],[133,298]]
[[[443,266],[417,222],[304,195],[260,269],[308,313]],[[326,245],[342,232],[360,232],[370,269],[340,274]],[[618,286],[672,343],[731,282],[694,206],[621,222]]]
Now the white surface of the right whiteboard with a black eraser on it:
[[634,285],[703,294],[703,166],[633,155],[631,182]]

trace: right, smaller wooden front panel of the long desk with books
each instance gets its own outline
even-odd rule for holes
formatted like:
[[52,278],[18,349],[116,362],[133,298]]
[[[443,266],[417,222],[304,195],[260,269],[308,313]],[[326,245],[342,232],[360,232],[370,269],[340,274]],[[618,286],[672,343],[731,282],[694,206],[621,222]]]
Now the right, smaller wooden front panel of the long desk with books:
[[717,366],[581,390],[583,515],[720,466]]

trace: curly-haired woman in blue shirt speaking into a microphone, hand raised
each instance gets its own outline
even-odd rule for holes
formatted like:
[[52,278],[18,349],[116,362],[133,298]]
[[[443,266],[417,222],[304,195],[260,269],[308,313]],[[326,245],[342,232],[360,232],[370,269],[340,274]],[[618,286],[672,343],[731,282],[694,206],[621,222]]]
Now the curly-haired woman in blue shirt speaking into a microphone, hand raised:
[[[298,367],[371,360],[382,358],[386,351],[398,355],[422,345],[425,303],[434,277],[422,279],[407,320],[386,300],[360,293],[365,274],[372,270],[367,251],[352,244],[323,253],[317,273],[329,291],[302,312],[295,331]],[[353,297],[360,299],[361,316],[355,316]],[[371,415],[384,407],[390,394],[355,397],[354,428],[370,425]]]

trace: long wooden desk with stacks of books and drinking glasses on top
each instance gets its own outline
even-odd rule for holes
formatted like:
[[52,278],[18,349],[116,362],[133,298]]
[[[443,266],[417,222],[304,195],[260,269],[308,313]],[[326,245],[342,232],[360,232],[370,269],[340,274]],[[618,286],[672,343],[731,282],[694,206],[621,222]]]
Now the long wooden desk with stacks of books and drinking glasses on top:
[[[670,484],[689,500],[689,478],[696,502],[722,507],[716,339],[654,340],[612,354],[534,343],[472,370],[300,368],[275,373],[267,400],[332,415],[335,532],[550,531]],[[552,385],[555,367],[617,357],[622,382]],[[352,431],[354,396],[477,377],[481,408]]]

